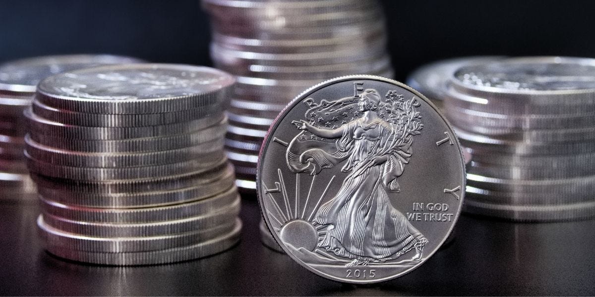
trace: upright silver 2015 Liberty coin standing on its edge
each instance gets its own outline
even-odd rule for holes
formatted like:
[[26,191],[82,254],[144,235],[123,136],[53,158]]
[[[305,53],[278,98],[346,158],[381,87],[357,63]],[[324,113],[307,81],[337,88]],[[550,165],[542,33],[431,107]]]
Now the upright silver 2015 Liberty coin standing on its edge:
[[453,129],[422,94],[352,75],[306,90],[275,120],[256,190],[275,241],[297,263],[374,283],[440,248],[461,211],[465,165]]

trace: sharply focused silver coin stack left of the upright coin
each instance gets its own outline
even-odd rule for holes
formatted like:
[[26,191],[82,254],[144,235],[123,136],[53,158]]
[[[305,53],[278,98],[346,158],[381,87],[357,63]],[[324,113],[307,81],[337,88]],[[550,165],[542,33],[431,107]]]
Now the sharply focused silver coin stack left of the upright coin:
[[45,248],[138,265],[234,245],[241,222],[223,151],[234,78],[189,65],[122,64],[54,75],[26,111],[26,156]]

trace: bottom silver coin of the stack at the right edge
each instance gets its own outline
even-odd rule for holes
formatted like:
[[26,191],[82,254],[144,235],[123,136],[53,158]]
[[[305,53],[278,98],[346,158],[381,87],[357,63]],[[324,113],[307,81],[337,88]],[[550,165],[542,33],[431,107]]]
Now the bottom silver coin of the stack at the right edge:
[[468,199],[465,201],[464,210],[467,213],[499,217],[516,222],[558,222],[595,216],[595,201],[562,206],[511,206]]

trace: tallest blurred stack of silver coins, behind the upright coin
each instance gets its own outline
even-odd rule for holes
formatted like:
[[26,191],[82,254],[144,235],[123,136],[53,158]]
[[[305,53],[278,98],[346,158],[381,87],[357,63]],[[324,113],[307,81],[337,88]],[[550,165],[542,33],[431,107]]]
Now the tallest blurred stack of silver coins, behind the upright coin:
[[237,75],[228,112],[228,157],[237,185],[255,194],[258,151],[279,112],[303,90],[348,74],[392,77],[377,1],[203,0],[211,56]]

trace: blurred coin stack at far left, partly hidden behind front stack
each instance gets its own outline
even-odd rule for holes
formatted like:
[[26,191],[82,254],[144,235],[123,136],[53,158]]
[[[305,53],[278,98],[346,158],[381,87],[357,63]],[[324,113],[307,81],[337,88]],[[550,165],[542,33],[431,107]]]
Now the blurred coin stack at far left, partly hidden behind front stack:
[[0,200],[34,200],[23,150],[26,133],[24,110],[31,105],[37,83],[71,69],[100,64],[139,62],[112,55],[62,55],[19,59],[0,65]]

